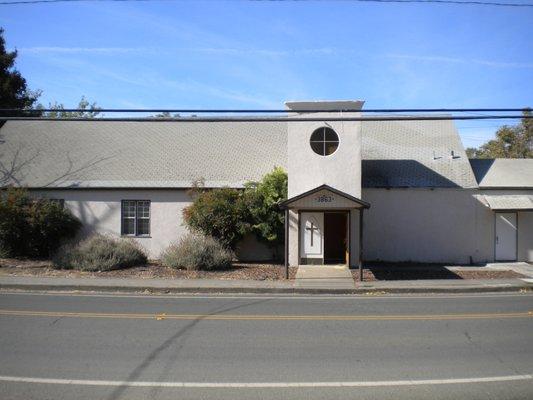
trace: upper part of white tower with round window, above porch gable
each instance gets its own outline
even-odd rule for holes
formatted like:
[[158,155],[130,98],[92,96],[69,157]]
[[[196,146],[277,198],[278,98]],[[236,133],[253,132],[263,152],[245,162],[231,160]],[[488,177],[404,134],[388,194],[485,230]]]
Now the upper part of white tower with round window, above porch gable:
[[318,119],[288,122],[289,198],[321,185],[361,198],[361,122],[327,118],[360,118],[363,103],[358,100],[285,103],[291,118]]

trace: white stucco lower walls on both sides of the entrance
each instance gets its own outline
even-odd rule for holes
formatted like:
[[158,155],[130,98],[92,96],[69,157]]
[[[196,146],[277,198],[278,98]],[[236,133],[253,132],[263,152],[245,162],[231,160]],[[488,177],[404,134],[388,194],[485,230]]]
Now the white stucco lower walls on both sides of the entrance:
[[[121,200],[151,201],[151,237],[137,238],[151,258],[187,232],[185,190],[47,190],[35,196],[64,199],[84,224],[83,234],[120,235]],[[529,191],[462,189],[364,189],[371,204],[364,212],[366,260],[468,263],[494,260],[494,212],[483,194],[533,194]],[[298,214],[290,213],[289,262],[298,264]],[[352,264],[357,263],[358,211],[352,211]],[[238,251],[245,260],[271,258],[271,251],[246,238]],[[533,212],[518,213],[518,260],[533,261]]]

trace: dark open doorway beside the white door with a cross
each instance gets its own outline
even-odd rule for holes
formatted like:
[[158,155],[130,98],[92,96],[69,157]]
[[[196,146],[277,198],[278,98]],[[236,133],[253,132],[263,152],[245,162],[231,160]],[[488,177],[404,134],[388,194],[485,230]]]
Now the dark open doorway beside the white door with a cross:
[[348,213],[324,213],[324,264],[346,264]]

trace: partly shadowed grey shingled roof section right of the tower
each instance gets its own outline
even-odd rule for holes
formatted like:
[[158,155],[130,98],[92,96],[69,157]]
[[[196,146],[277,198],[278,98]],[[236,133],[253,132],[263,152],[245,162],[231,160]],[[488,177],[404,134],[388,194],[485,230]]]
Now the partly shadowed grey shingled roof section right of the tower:
[[363,187],[477,187],[452,121],[363,122]]

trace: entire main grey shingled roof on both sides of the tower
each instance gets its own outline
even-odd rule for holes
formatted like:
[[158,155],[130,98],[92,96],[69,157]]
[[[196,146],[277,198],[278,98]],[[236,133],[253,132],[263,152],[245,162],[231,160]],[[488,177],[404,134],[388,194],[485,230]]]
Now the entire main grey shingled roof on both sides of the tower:
[[[286,124],[8,121],[0,184],[240,187],[286,167]],[[476,187],[450,121],[364,122],[362,168],[363,187]]]

